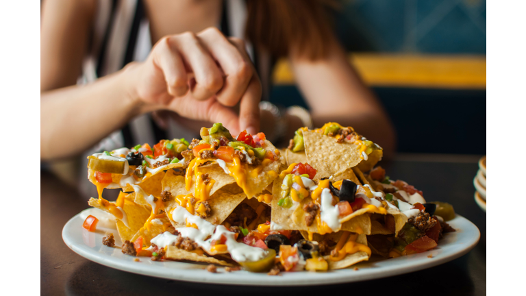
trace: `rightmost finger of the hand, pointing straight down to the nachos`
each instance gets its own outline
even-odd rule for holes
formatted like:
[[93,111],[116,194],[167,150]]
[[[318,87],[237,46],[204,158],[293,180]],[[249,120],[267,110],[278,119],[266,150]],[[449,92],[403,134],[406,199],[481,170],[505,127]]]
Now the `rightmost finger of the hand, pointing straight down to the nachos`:
[[[238,38],[229,38],[232,45],[234,45],[245,59],[249,59],[245,51],[245,43]],[[258,75],[254,74],[251,77],[247,90],[240,99],[239,106],[239,126],[240,130],[247,130],[250,134],[255,134],[260,130],[260,100],[261,100],[261,82]]]

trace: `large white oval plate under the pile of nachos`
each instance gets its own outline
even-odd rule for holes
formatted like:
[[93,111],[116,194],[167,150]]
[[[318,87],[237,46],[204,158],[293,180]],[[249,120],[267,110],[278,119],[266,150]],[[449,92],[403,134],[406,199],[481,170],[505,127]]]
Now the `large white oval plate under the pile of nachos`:
[[[444,234],[444,238],[440,240],[438,247],[421,254],[380,260],[371,258],[370,261],[355,264],[349,269],[325,273],[303,271],[282,273],[282,276],[271,276],[266,275],[266,273],[249,273],[248,271],[227,273],[223,268],[218,268],[218,273],[210,273],[205,270],[206,264],[175,261],[154,262],[148,257],[125,255],[118,247],[106,247],[102,245],[102,237],[105,232],[103,230],[97,230],[97,232],[84,230],[82,228],[84,219],[79,215],[75,215],[64,225],[62,238],[64,243],[80,256],[107,267],[131,273],[210,284],[308,286],[372,280],[418,271],[451,261],[473,249],[480,238],[477,226],[457,215],[455,219],[448,222],[457,231]],[[114,234],[116,245],[121,245],[116,231]],[[140,262],[135,262],[135,258],[140,258]],[[353,270],[353,267],[358,267],[358,270]]]

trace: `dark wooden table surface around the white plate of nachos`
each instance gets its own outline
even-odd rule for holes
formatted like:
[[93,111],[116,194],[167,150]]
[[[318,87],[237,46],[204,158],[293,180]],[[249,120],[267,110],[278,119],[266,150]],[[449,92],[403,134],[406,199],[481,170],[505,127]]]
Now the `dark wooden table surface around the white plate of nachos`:
[[309,287],[251,287],[196,284],[119,271],[75,254],[62,241],[62,227],[88,207],[76,188],[41,173],[40,291],[42,295],[486,295],[486,212],[473,199],[477,157],[399,156],[382,164],[392,179],[423,190],[427,201],[447,201],[479,227],[481,238],[468,254],[423,271],[379,280]]

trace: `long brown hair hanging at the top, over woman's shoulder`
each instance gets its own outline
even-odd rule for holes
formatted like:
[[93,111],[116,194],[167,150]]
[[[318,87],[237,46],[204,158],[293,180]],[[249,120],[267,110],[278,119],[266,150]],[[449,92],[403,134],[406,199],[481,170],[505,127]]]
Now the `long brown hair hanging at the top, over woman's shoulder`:
[[295,53],[317,60],[328,51],[330,0],[248,0],[247,39],[276,58]]

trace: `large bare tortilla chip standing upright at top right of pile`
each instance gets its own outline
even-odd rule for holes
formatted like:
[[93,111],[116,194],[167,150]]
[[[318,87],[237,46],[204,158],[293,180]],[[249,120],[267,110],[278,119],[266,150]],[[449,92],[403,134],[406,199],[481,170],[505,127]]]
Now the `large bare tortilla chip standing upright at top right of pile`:
[[318,170],[318,179],[343,173],[362,161],[360,145],[338,143],[334,137],[308,131],[303,132],[303,141],[308,163]]

